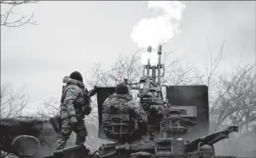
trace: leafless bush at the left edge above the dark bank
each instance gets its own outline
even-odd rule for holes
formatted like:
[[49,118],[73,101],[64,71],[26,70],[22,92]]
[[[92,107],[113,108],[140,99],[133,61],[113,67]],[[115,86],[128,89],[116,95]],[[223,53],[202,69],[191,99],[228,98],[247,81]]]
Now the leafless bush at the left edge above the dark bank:
[[0,118],[12,118],[21,115],[29,100],[29,97],[24,94],[24,88],[21,87],[14,92],[10,84],[1,85]]

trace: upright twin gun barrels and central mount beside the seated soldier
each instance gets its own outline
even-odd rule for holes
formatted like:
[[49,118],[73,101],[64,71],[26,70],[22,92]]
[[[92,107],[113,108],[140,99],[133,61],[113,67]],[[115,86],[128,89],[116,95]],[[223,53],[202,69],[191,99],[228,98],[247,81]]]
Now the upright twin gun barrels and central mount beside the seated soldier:
[[[151,54],[151,50],[149,46],[147,53]],[[155,60],[158,62],[157,64],[154,63],[151,66],[149,59],[146,65],[144,65],[144,76],[140,77],[139,82],[128,83],[127,79],[124,79],[124,82],[128,84],[130,89],[139,90],[139,103],[148,114],[150,136],[154,135],[156,136],[155,138],[173,138],[176,134],[187,134],[188,127],[197,124],[196,107],[174,107],[171,106],[171,103],[164,101],[161,91],[163,87],[161,85],[161,77],[165,75],[165,66],[161,64],[161,50],[162,47],[160,45],[157,50],[158,56],[155,56],[157,57],[157,60]],[[186,116],[188,112],[190,112],[194,120],[181,117],[181,114]],[[182,126],[184,124],[186,124],[186,127]]]

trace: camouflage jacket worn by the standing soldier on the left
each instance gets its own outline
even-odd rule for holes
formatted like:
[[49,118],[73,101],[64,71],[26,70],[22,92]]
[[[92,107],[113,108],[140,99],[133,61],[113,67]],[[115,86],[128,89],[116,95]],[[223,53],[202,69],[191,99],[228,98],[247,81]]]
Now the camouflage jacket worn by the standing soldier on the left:
[[71,79],[69,76],[63,78],[63,83],[66,83],[66,85],[63,86],[61,118],[79,115],[84,119],[84,114],[81,111],[82,106],[90,106],[90,97],[95,95],[95,90],[92,89],[88,92],[83,82]]

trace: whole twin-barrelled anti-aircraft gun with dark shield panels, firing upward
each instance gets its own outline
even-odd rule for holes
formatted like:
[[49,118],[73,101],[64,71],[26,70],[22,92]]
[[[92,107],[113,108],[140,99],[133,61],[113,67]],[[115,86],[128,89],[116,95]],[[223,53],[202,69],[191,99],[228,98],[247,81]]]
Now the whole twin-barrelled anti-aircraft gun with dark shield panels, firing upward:
[[[148,56],[151,50],[149,47]],[[115,142],[101,145],[100,157],[213,157],[215,156],[213,145],[228,138],[231,132],[237,132],[237,126],[231,126],[221,132],[208,135],[209,103],[206,86],[166,86],[165,101],[161,91],[163,87],[161,77],[164,76],[161,45],[157,55],[158,60],[153,59],[155,63],[151,65],[150,58],[144,61],[144,76],[140,77],[139,82],[130,83],[124,79],[130,90],[139,91],[137,97],[140,106],[148,113],[148,132],[140,140],[132,140],[133,137],[130,136],[130,140],[124,143],[106,134],[106,127],[102,124],[101,108],[106,97],[115,92],[115,88],[101,87],[101,91],[97,93],[99,138]],[[122,124],[116,123],[112,127],[122,130],[121,126]],[[112,134],[114,133],[121,134],[113,129]],[[207,136],[200,138],[203,135]]]

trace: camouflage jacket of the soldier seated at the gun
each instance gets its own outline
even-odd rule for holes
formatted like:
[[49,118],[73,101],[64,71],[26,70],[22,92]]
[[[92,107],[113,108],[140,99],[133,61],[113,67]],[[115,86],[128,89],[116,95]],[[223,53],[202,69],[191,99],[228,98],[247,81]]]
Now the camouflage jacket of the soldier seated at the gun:
[[144,109],[139,103],[133,101],[131,95],[121,95],[114,93],[106,98],[102,105],[102,113],[107,114],[129,114],[131,119],[135,119],[140,123],[147,123],[148,117]]

